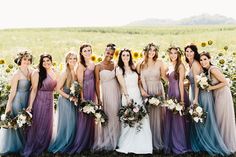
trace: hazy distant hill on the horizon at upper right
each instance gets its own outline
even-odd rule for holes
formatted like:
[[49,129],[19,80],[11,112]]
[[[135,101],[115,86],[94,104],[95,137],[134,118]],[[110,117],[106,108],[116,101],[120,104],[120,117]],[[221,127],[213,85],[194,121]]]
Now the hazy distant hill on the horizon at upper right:
[[236,24],[236,20],[222,15],[202,14],[180,20],[170,19],[144,19],[134,21],[127,26],[168,26],[168,25],[219,25],[219,24]]

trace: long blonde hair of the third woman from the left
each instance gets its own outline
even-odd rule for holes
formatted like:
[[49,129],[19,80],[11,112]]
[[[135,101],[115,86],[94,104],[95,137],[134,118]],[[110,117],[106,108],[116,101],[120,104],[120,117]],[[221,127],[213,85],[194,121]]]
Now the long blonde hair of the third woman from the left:
[[[76,56],[76,59],[77,59],[77,55],[75,52],[73,51],[69,51],[67,54],[66,54],[66,57],[65,57],[65,62],[66,62],[66,86],[67,87],[70,87],[71,84],[72,84],[72,73],[71,73],[71,70],[70,70],[70,65],[68,63],[68,59],[71,57],[71,56]],[[78,59],[77,59],[78,60]]]

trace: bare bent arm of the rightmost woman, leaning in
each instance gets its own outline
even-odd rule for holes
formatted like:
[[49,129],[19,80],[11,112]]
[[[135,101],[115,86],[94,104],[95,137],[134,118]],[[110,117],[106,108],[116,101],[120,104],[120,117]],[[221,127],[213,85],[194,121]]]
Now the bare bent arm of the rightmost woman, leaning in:
[[227,86],[228,82],[225,79],[224,75],[218,70],[217,68],[211,69],[210,73],[215,77],[220,83],[214,86],[209,86],[208,90],[216,90],[219,88],[222,88],[224,86]]

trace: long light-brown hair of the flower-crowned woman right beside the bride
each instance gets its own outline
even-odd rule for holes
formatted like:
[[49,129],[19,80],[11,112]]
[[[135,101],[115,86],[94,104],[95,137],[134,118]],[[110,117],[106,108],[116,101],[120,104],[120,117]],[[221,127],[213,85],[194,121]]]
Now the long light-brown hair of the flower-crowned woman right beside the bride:
[[153,61],[156,61],[158,58],[158,52],[159,52],[159,47],[155,45],[154,43],[149,43],[146,45],[143,49],[144,52],[144,61],[141,63],[140,68],[143,69],[144,67],[147,67],[147,62],[148,62],[148,52],[151,50],[151,47],[155,48],[155,56],[153,57]]

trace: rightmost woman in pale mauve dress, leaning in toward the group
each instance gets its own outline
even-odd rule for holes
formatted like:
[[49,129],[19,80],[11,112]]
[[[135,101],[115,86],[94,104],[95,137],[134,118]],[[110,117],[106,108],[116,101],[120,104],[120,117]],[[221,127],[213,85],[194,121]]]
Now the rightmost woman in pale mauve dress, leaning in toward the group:
[[212,90],[215,98],[215,114],[216,122],[223,137],[226,147],[231,153],[236,152],[236,125],[234,104],[230,88],[224,74],[211,64],[211,56],[208,52],[200,54],[200,63],[204,70],[207,71],[211,79],[211,86],[208,90]]

